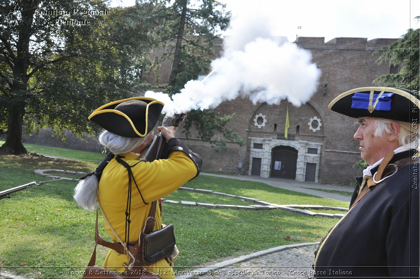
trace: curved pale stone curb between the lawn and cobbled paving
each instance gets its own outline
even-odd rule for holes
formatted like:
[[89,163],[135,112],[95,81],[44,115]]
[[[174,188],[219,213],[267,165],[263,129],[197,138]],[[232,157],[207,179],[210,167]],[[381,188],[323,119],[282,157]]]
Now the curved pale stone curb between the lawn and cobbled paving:
[[219,268],[223,268],[223,267],[227,267],[227,266],[232,266],[235,263],[241,263],[243,261],[248,261],[248,260],[251,260],[253,258],[261,257],[261,256],[264,256],[264,255],[267,255],[267,254],[277,253],[277,252],[280,252],[280,251],[283,251],[283,250],[286,250],[286,249],[290,249],[290,248],[295,248],[295,247],[318,245],[318,244],[319,244],[319,242],[310,242],[310,243],[300,243],[300,244],[278,246],[278,247],[270,248],[270,249],[267,249],[267,250],[251,253],[249,255],[243,255],[243,256],[240,256],[238,258],[223,261],[221,263],[216,263],[213,266],[205,266],[205,267],[197,268],[197,269],[194,269],[193,271],[190,271],[189,275],[186,275],[186,276],[183,275],[183,276],[179,276],[179,277],[176,277],[176,278],[179,278],[179,279],[193,278],[194,276],[197,276],[197,275],[209,274],[210,271],[213,271],[213,270],[216,270],[216,269],[219,269]]

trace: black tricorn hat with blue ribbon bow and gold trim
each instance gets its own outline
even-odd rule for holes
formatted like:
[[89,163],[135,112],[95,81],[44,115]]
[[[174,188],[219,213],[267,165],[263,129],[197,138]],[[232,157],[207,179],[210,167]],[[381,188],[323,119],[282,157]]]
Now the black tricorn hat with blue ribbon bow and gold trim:
[[410,114],[418,113],[416,96],[399,87],[361,87],[339,95],[328,108],[353,118],[370,116],[410,122]]

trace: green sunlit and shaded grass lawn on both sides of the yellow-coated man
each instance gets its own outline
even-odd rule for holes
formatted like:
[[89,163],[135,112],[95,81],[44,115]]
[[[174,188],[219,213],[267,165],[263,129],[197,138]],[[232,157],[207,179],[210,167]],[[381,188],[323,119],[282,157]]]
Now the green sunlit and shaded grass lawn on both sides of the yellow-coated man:
[[[29,145],[25,146],[31,150]],[[68,157],[81,157],[82,153],[84,152],[76,151]],[[99,155],[101,160],[103,155]],[[87,155],[84,159],[90,156]],[[91,171],[95,167],[96,163],[92,162],[27,155],[0,156],[0,191],[32,181],[43,181],[43,177],[33,174],[36,168]],[[35,185],[11,194],[11,199],[0,200],[2,271],[10,270],[14,274],[31,277],[75,277],[77,272],[84,270],[94,247],[95,212],[84,211],[76,205],[72,197],[75,186],[75,182],[66,181]],[[214,176],[201,175],[184,186],[259,198],[278,204],[336,207],[349,205],[263,183]],[[179,201],[250,204],[239,199],[188,191],[176,191],[167,198]],[[166,203],[163,204],[163,219],[166,224],[174,224],[177,246],[181,251],[175,268],[180,270],[279,245],[317,242],[337,221],[281,210],[209,209]],[[102,217],[99,222],[103,223]],[[103,226],[100,226],[100,234],[109,240]],[[100,265],[108,249],[99,246],[98,248],[97,264]]]

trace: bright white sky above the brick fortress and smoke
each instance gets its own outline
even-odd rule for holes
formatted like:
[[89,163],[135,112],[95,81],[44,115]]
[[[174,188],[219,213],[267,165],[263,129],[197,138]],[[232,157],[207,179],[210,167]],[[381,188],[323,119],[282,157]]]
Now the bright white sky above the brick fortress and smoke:
[[[259,13],[271,24],[274,36],[290,42],[299,37],[398,38],[407,29],[420,28],[419,0],[220,0],[232,19]],[[293,2],[293,3],[292,3]],[[131,6],[135,0],[113,0],[114,5]],[[264,23],[264,24],[267,24]],[[298,29],[298,26],[301,26]],[[229,35],[224,31],[221,37]]]

